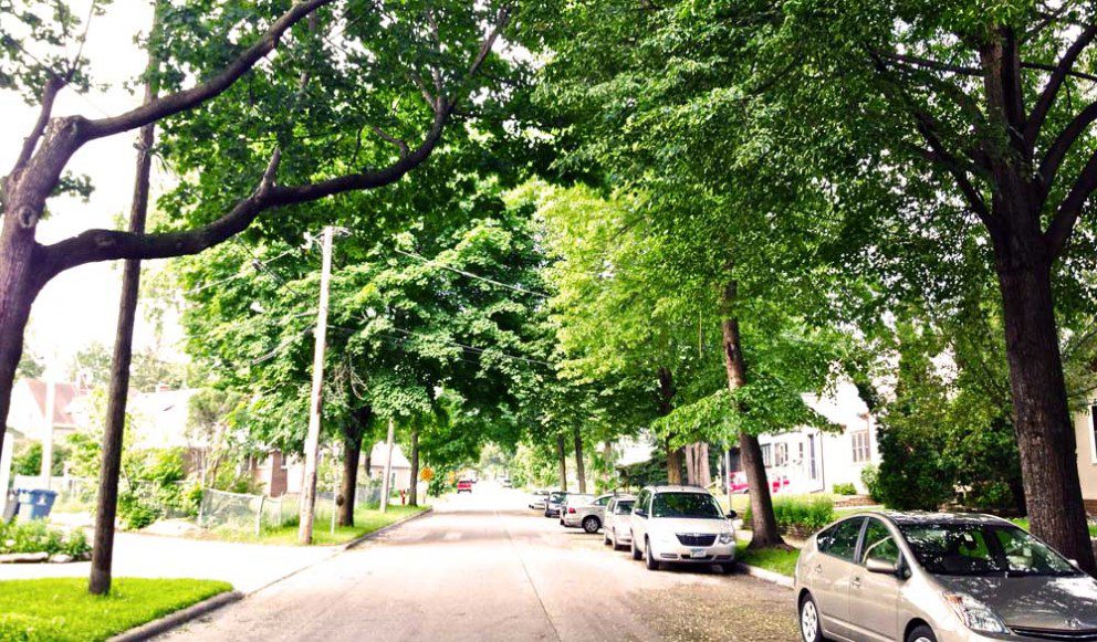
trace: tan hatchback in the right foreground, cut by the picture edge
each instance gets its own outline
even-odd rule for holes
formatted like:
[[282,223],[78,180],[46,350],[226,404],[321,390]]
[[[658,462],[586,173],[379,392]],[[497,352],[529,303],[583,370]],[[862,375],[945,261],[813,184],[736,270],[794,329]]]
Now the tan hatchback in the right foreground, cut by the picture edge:
[[1097,581],[989,515],[859,514],[804,545],[806,642],[1097,640]]

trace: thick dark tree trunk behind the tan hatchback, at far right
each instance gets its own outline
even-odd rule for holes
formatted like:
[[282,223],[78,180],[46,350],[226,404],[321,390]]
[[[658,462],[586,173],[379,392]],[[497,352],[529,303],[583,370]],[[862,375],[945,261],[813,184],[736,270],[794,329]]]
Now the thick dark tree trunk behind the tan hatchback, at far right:
[[[1024,253],[1016,245],[1010,250],[1013,256]],[[1090,575],[1097,575],[1078,478],[1077,440],[1063,377],[1051,266],[1039,260],[1000,257],[997,275],[1032,532],[1077,560]]]

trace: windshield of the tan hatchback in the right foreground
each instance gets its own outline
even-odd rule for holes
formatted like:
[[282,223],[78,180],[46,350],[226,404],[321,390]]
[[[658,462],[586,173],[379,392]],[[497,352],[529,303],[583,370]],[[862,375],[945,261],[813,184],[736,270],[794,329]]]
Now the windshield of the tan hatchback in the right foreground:
[[1077,569],[1035,537],[1005,524],[899,526],[926,570],[949,576],[1072,576]]

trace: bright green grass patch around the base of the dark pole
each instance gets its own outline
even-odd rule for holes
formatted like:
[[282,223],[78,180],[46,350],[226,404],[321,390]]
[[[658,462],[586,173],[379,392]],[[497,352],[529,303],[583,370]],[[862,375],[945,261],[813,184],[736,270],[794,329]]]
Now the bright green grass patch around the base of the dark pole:
[[86,578],[0,581],[0,640],[105,640],[229,590],[212,580],[121,578],[103,598],[87,593]]

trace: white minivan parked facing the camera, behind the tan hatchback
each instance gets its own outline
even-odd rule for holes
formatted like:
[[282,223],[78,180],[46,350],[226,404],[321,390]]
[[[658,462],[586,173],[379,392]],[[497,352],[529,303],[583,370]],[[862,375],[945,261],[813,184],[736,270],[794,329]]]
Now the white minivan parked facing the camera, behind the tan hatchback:
[[720,565],[731,572],[735,561],[735,512],[724,515],[715,497],[691,486],[648,486],[629,515],[633,559],[648,569],[665,561]]

